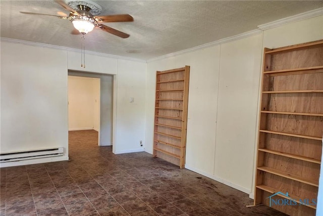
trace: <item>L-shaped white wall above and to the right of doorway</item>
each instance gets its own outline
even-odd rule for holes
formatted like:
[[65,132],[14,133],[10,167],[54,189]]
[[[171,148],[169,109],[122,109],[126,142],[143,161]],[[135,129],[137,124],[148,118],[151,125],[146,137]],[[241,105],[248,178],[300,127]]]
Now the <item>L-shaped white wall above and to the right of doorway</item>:
[[[113,152],[143,151],[139,143],[145,143],[146,63],[91,55],[86,55],[85,60],[86,67],[81,68],[80,53],[68,51],[69,70],[117,75],[113,92]],[[134,97],[133,103],[129,102],[130,97]]]

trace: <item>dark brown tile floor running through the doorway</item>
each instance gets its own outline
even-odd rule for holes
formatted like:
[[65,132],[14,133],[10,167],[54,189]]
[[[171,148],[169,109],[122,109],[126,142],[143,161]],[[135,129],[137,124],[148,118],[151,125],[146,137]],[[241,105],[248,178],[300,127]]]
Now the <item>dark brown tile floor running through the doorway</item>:
[[71,131],[70,161],[1,169],[0,215],[284,215],[146,152],[113,154]]

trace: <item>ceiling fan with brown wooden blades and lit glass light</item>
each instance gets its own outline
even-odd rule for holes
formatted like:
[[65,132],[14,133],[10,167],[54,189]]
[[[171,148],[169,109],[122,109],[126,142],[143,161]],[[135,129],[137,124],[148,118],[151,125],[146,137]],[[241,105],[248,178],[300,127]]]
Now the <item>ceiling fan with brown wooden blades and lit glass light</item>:
[[[101,13],[101,7],[95,3],[89,1],[70,1],[66,4],[63,0],[56,0],[56,3],[61,5],[64,9],[70,12],[69,16],[56,16],[49,14],[39,14],[31,12],[20,12],[22,14],[31,14],[31,15],[45,15],[45,16],[54,16],[61,19],[67,19],[73,23],[73,26],[81,33],[86,34],[93,30],[94,27],[99,28],[105,32],[109,32],[116,36],[127,38],[130,35],[124,32],[121,32],[117,29],[111,28],[109,26],[100,24],[100,23],[109,23],[109,22],[132,22],[133,18],[129,14],[118,14],[118,15],[105,15],[105,16],[96,16]],[[73,9],[72,7],[75,9]],[[61,14],[64,14],[61,12]]]

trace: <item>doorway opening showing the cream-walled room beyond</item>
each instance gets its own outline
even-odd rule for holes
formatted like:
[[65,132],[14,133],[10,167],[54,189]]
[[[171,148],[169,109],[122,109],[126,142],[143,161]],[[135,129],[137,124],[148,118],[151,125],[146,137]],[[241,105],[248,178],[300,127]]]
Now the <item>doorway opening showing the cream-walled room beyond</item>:
[[97,145],[112,147],[113,85],[113,75],[69,70],[69,131],[92,130]]

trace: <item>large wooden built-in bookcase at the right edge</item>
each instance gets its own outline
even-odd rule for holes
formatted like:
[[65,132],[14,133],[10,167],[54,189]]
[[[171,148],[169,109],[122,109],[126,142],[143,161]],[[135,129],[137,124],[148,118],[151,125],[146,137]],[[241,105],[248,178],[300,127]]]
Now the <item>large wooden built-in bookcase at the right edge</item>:
[[[323,40],[264,49],[254,204],[315,215],[323,134]],[[308,200],[303,203],[303,200]],[[293,202],[294,203],[294,202]]]

